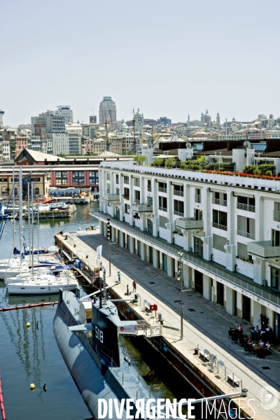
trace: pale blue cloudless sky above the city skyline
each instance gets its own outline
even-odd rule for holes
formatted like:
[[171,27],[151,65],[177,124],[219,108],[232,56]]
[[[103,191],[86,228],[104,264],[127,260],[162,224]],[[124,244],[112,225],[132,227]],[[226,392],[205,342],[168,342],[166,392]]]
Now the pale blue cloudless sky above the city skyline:
[[280,2],[1,0],[0,109],[17,127],[58,105],[89,123],[280,116]]

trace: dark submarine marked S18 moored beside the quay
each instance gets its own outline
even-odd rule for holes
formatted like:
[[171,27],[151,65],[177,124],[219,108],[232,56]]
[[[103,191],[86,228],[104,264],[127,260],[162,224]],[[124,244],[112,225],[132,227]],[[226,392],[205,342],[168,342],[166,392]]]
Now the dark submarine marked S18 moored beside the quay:
[[[160,335],[161,325],[122,321],[106,293],[80,299],[78,293],[59,290],[52,326],[66,366],[95,419],[165,418],[163,407],[158,409],[151,389],[119,343],[120,334]],[[139,400],[148,407],[140,413]]]

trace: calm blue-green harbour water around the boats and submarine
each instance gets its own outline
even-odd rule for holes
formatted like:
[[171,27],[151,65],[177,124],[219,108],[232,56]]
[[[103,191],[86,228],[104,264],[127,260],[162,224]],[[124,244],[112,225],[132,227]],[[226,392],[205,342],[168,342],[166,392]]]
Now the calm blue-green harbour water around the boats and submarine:
[[[88,214],[94,204],[78,205],[71,219],[64,219],[64,232],[84,230],[94,223]],[[60,221],[41,221],[40,246],[53,244],[53,236],[61,230]],[[24,222],[28,243],[28,223]],[[36,238],[36,225],[34,225]],[[13,222],[7,221],[0,241],[0,259],[9,258],[13,247]],[[36,243],[36,241],[35,241]],[[0,282],[0,307],[14,304],[53,302],[57,295],[8,297]],[[91,419],[78,388],[69,374],[52,332],[55,307],[43,307],[0,313],[0,365],[2,391],[8,420],[80,420]],[[38,328],[36,323],[38,321]],[[29,322],[31,327],[26,328]],[[136,339],[137,340],[137,339]],[[141,375],[158,398],[197,398],[193,388],[182,381],[171,366],[135,339],[123,339],[123,346],[139,367]],[[43,391],[46,382],[47,391]],[[36,388],[30,391],[29,385]],[[183,390],[183,392],[182,392]]]

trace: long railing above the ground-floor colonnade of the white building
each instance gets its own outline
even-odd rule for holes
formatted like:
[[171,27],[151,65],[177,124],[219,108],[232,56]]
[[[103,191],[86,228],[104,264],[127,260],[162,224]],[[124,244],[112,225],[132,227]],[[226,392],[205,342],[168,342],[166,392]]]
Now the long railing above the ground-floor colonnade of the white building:
[[[96,218],[99,218],[100,220],[107,223],[107,217],[110,216],[109,214],[102,214],[100,211],[94,211],[90,212],[91,216],[94,216]],[[142,232],[141,230],[138,230],[137,228],[134,228],[133,226],[127,225],[126,223],[123,223],[119,221],[117,218],[113,218],[110,216],[111,225],[118,226],[119,228],[125,230],[126,232],[130,232],[133,235],[144,239],[145,241],[148,241],[150,244],[158,246],[160,250],[164,249],[170,254],[172,254],[173,258],[176,258],[178,260],[178,248],[175,246],[172,246],[171,244],[167,244],[164,241],[160,241],[160,239],[157,239],[153,237],[153,235],[148,234],[146,232]],[[179,220],[179,219],[176,219]],[[230,283],[234,284],[235,286],[239,286],[243,290],[247,290],[250,293],[253,293],[254,295],[261,297],[262,299],[266,300],[267,302],[271,302],[273,304],[276,304],[278,307],[280,307],[280,297],[276,295],[272,295],[272,293],[269,293],[267,290],[264,290],[261,286],[255,286],[254,284],[250,283],[249,281],[245,281],[242,279],[239,279],[234,274],[230,274],[225,271],[225,269],[221,269],[218,267],[214,267],[211,262],[202,260],[202,258],[197,258],[190,253],[187,253],[183,249],[183,260],[186,262],[189,262],[195,267],[200,267],[200,269],[204,269],[205,272],[207,272],[208,276],[211,276],[213,274],[214,276],[218,276],[220,279],[229,281]]]

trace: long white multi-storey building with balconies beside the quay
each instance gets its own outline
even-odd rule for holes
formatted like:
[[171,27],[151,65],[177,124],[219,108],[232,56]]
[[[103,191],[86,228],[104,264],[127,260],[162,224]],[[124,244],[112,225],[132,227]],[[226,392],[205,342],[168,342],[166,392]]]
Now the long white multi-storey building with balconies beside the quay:
[[279,181],[102,162],[99,192],[103,235],[175,278],[183,251],[186,287],[279,337]]

